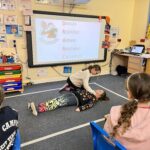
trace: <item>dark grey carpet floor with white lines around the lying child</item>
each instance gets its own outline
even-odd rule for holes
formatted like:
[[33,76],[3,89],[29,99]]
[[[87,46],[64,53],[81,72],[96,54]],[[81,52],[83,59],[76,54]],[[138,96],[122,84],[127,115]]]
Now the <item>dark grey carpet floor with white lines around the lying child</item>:
[[[105,75],[92,78],[90,82],[93,83],[91,84],[93,89],[98,89],[98,85],[100,85],[126,97],[124,81],[125,77]],[[34,101],[36,104],[38,104],[39,102],[57,97],[59,95],[58,89],[62,87],[64,83],[65,82],[54,82],[28,86],[25,87],[25,91],[23,93],[26,95],[21,95],[20,93],[11,93],[6,95],[7,98],[5,105],[10,105],[19,112],[21,143],[100,119],[105,114],[109,113],[112,106],[120,105],[126,102],[124,98],[106,90],[110,101],[98,102],[93,108],[87,111],[75,112],[75,106],[64,107],[51,112],[39,114],[37,117],[35,117],[30,111],[27,110],[27,102]],[[103,126],[103,122],[99,124]],[[44,141],[22,147],[22,149],[91,150],[92,140],[90,127],[87,126],[65,134],[61,134]]]

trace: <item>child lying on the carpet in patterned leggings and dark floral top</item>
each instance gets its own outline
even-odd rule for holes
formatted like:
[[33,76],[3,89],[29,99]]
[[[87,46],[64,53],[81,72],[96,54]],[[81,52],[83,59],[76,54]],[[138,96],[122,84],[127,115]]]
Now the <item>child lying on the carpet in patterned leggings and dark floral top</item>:
[[93,105],[99,100],[109,100],[109,98],[106,97],[105,91],[95,90],[95,92],[98,97],[89,93],[85,89],[78,89],[72,92],[66,91],[66,93],[57,98],[39,103],[37,107],[34,102],[28,103],[28,108],[32,110],[32,113],[35,116],[37,116],[38,113],[51,111],[64,106],[77,106],[76,111],[80,112],[93,107]]

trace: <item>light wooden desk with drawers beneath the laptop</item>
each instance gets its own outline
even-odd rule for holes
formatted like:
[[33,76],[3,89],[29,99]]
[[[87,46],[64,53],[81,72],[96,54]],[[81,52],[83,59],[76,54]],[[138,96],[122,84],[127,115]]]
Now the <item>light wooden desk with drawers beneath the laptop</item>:
[[128,73],[146,72],[150,74],[150,54],[136,56],[124,53],[111,53],[110,73],[116,70],[118,65],[127,67]]

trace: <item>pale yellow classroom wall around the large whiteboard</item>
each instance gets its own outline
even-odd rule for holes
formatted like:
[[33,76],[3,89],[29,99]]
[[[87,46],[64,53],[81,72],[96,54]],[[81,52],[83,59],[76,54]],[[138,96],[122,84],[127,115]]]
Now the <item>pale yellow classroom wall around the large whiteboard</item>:
[[[110,53],[114,48],[124,48],[129,45],[129,41],[132,39],[139,40],[145,34],[146,16],[148,13],[148,1],[149,0],[91,0],[88,4],[75,6],[72,13],[87,14],[87,15],[98,15],[98,16],[109,16],[112,27],[119,29],[119,35],[122,41],[120,43],[112,44],[110,47],[106,62],[100,63],[102,66],[101,74],[109,74],[109,61]],[[34,0],[32,2],[33,10],[41,11],[54,11],[54,12],[70,12],[70,7],[54,6],[50,4],[37,4]],[[17,10],[7,11],[1,10],[0,13],[11,13],[18,16],[18,23],[24,25],[24,16],[19,10],[19,4],[17,4]],[[142,21],[138,21],[139,11],[141,10],[140,16]],[[143,16],[143,17],[142,17]],[[138,22],[138,25],[137,25]],[[136,27],[136,28],[135,28]],[[137,31],[138,30],[138,31]],[[63,66],[57,67],[43,67],[43,68],[28,68],[27,65],[27,49],[26,49],[26,37],[25,33],[23,37],[16,38],[9,36],[10,39],[16,39],[17,51],[21,63],[23,64],[23,82],[43,83],[64,80],[70,74],[63,73]],[[5,53],[9,53],[10,50],[15,52],[13,48],[6,48]],[[0,48],[0,51],[4,51],[4,48]],[[72,71],[88,66],[89,64],[71,65]]]

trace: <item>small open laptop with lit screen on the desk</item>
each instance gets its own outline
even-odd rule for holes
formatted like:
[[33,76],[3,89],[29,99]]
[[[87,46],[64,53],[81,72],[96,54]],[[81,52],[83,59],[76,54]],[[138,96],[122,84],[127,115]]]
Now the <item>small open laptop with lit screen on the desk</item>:
[[145,46],[144,45],[134,45],[131,47],[131,54],[142,54],[144,52]]

